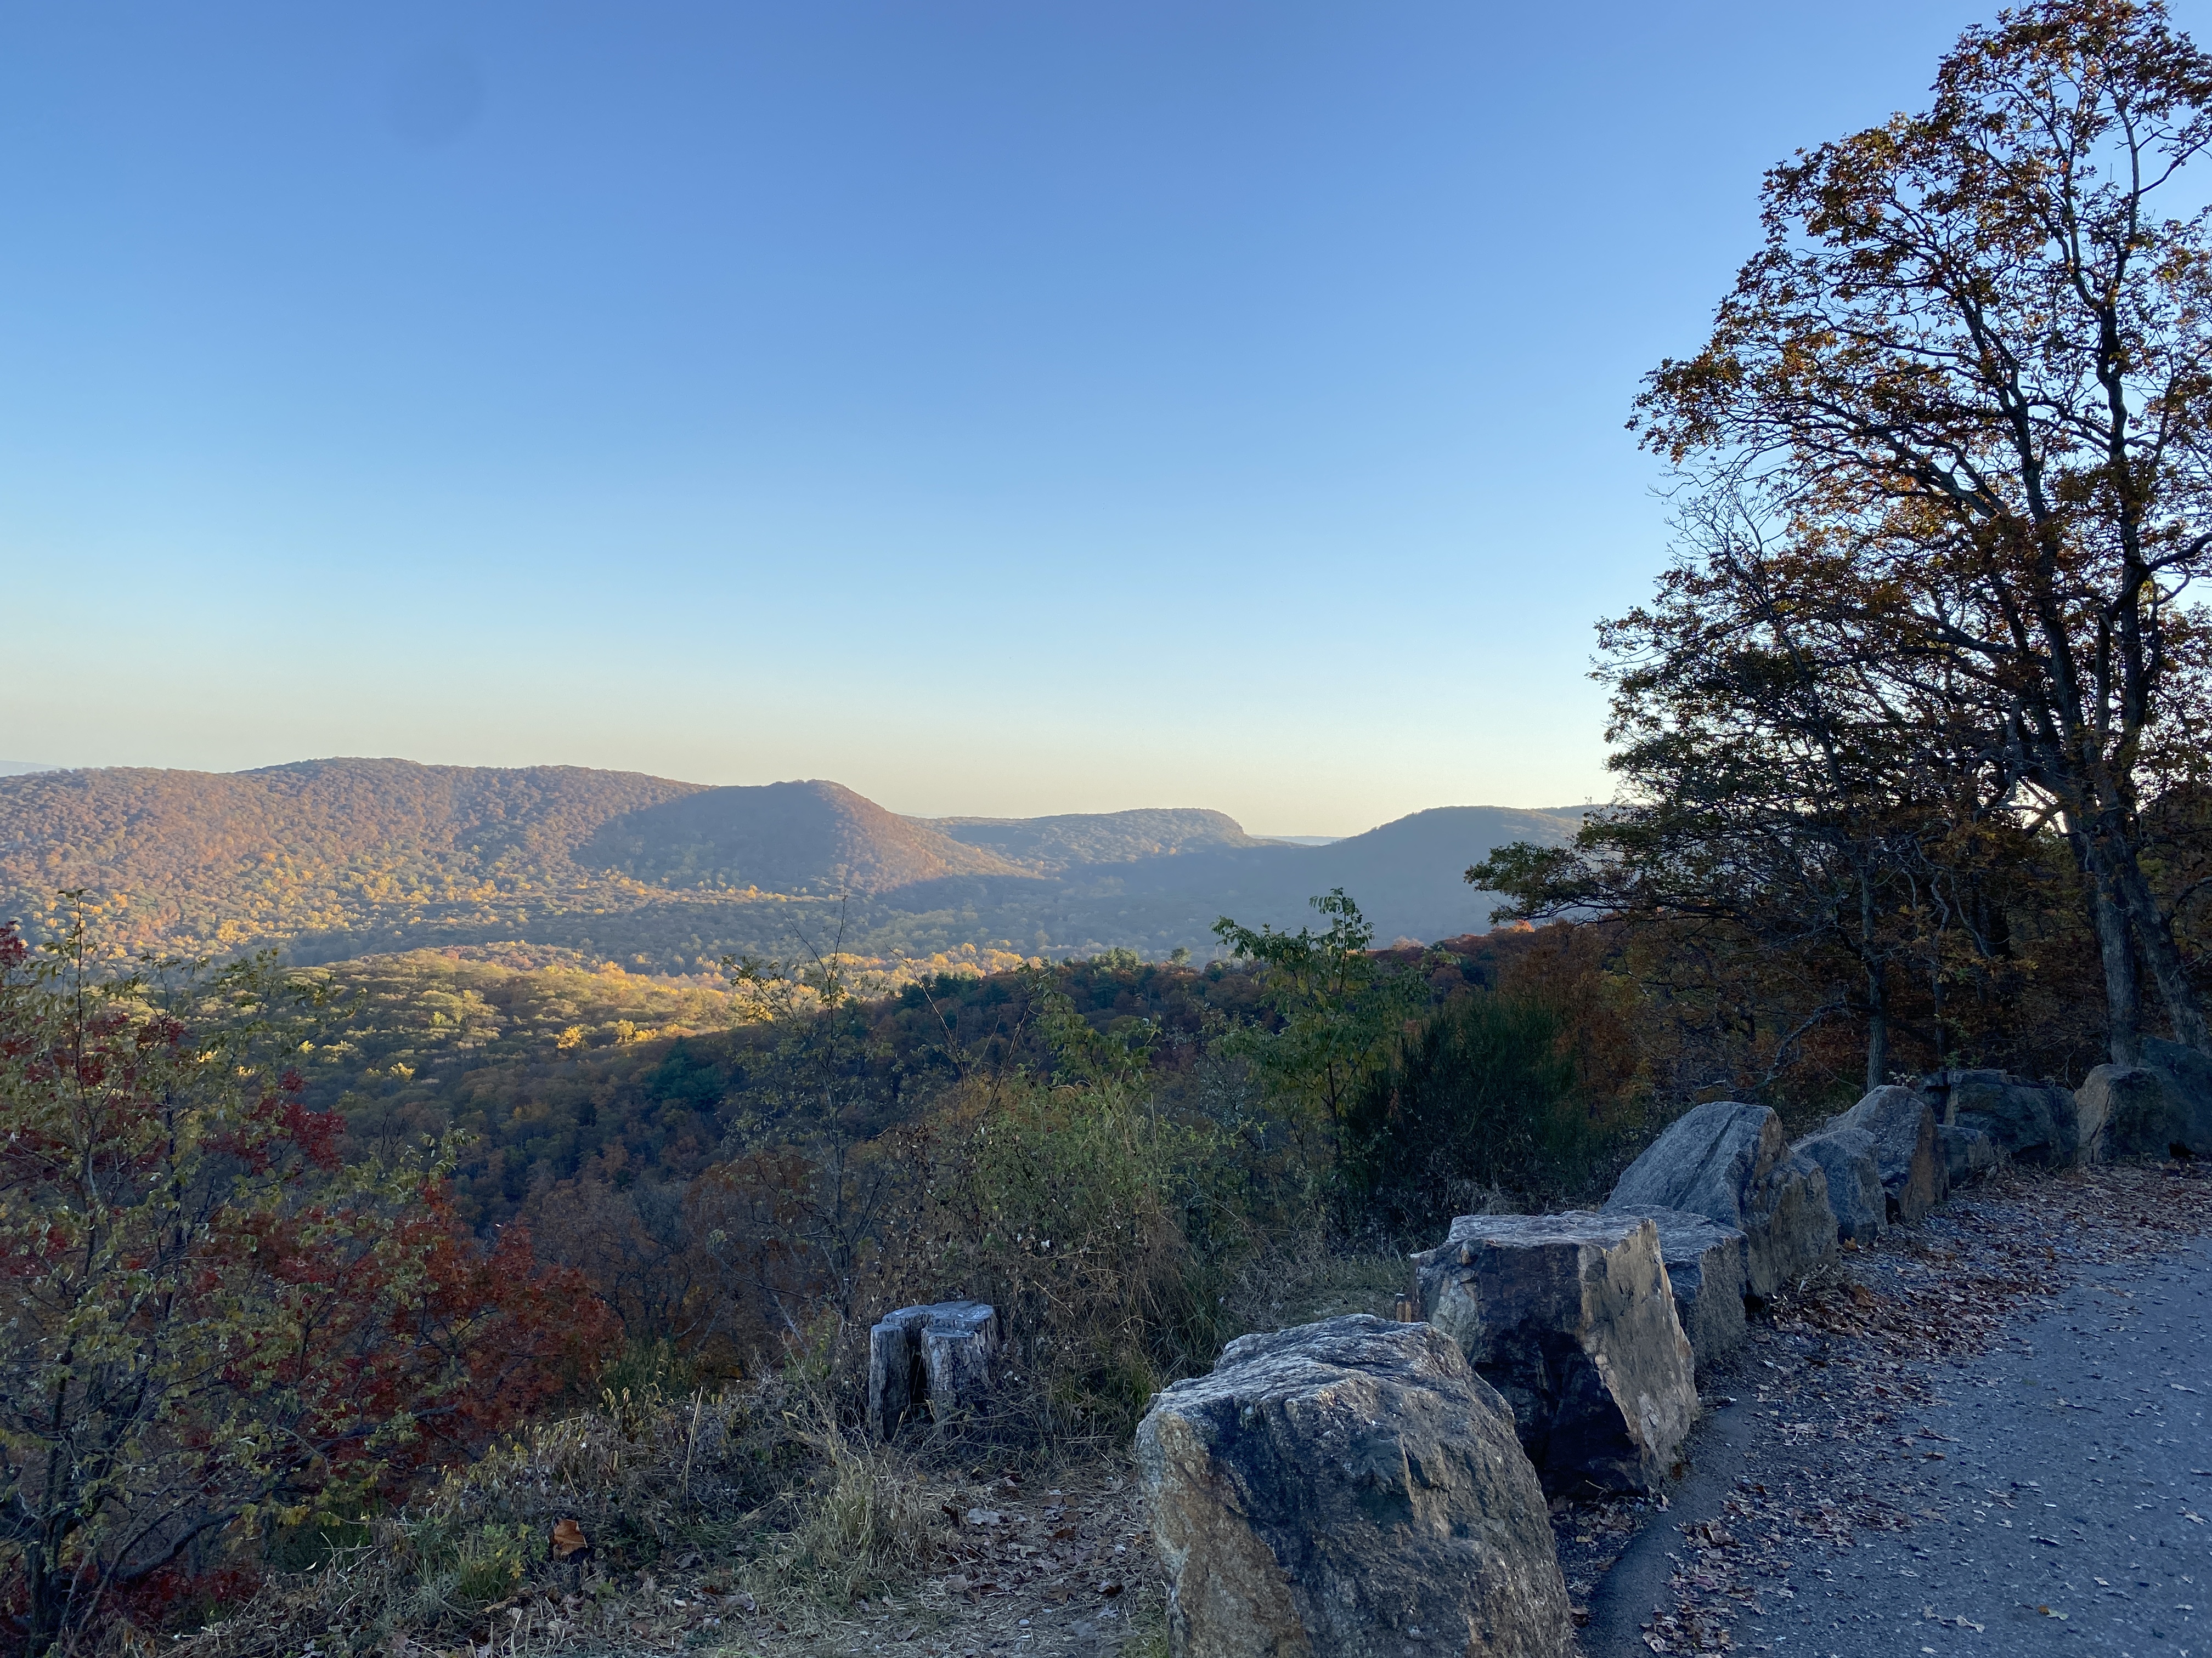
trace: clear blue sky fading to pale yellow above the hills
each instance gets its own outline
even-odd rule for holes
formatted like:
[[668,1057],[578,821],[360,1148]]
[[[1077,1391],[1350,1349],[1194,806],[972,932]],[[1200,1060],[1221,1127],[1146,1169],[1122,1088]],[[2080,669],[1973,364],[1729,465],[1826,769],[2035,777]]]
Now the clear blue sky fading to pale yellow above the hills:
[[1604,798],[1637,378],[1986,15],[4,0],[0,758]]

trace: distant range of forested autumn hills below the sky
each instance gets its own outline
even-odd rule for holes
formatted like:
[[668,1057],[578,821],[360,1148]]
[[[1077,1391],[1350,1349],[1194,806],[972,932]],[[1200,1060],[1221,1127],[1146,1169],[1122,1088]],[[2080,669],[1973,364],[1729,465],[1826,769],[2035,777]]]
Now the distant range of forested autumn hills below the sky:
[[1566,814],[1442,807],[1327,847],[1201,809],[902,818],[836,783],[712,789],[582,767],[303,760],[0,776],[0,920],[84,889],[111,948],[299,962],[436,946],[699,973],[726,953],[1208,953],[1345,886],[1378,935],[1486,926],[1460,871]]

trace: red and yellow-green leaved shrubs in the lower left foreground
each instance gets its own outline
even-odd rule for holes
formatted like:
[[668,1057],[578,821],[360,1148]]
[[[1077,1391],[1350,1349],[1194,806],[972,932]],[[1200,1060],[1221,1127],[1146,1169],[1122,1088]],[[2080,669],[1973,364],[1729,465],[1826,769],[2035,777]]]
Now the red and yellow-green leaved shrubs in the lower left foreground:
[[447,1152],[347,1158],[265,962],[95,977],[0,931],[0,1629],[66,1649],[246,1585],[279,1528],[460,1461],[611,1315]]

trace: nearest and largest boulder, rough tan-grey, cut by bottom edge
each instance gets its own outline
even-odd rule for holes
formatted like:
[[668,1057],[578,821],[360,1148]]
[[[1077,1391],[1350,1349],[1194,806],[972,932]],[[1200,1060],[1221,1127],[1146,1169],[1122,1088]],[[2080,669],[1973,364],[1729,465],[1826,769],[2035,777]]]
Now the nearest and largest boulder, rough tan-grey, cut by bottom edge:
[[1513,1413],[1431,1324],[1241,1335],[1137,1426],[1177,1658],[1566,1658]]

